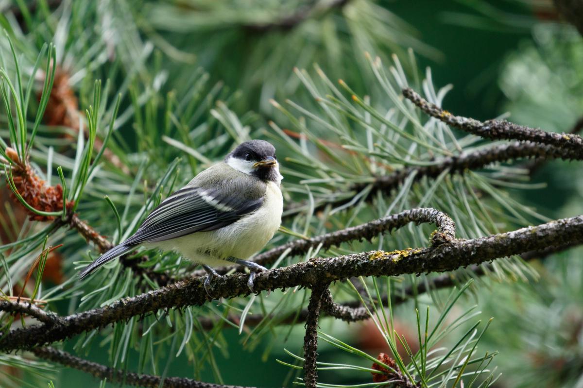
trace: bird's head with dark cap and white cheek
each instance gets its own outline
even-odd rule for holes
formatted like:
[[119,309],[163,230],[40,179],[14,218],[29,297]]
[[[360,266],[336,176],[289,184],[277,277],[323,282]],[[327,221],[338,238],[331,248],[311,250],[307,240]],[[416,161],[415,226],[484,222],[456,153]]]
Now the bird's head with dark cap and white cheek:
[[225,162],[237,171],[252,175],[263,181],[279,184],[283,179],[279,173],[275,147],[265,140],[249,140],[241,143],[227,157]]

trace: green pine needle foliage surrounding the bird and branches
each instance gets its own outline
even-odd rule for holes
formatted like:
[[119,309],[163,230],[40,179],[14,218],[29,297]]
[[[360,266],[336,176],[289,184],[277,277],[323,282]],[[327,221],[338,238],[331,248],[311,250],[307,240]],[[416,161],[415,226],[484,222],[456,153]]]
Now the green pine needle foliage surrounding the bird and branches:
[[[542,186],[529,180],[521,162],[416,177],[416,168],[493,144],[428,118],[402,97],[410,86],[441,106],[451,86],[437,85],[431,70],[418,65],[420,58],[439,61],[439,48],[424,44],[390,9],[371,0],[39,0],[5,6],[0,298],[15,301],[22,291],[23,300],[65,316],[156,290],[160,276],[191,277],[193,263],[142,248],[81,281],[78,271],[99,256],[99,244],[87,242],[67,220],[76,213],[117,244],[171,192],[248,139],[275,145],[285,177],[283,224],[266,249],[415,207],[447,213],[456,237],[468,239],[579,214],[575,205],[566,214],[544,206],[539,211],[518,196]],[[522,47],[507,59],[500,87],[513,119],[564,130],[581,105],[573,86],[580,84],[580,37],[548,26],[535,32],[540,46]],[[569,40],[554,47],[562,37]],[[569,70],[555,71],[559,64]],[[535,87],[533,72],[548,75],[537,85],[544,81],[547,93],[563,100],[535,98],[527,88]],[[406,169],[392,191],[375,186]],[[23,177],[60,190],[58,203],[39,209],[34,200],[43,189],[24,195]],[[299,257],[286,251],[269,267],[429,246],[433,229],[409,224],[372,241],[318,246]],[[580,279],[570,273],[580,274],[573,258],[550,266],[500,258],[448,273],[445,290],[433,283],[439,274],[425,273],[331,284],[335,302],[364,306],[367,330],[388,358],[359,341],[361,323],[323,317],[318,386],[526,386],[540,381],[526,352],[515,357],[526,345],[549,364],[570,357],[570,373],[547,377],[549,386],[581,383],[575,372],[580,347],[567,343],[561,323],[572,317],[571,307],[580,314],[570,298],[581,295]],[[524,305],[509,302],[514,292]],[[295,287],[160,310],[53,345],[110,368],[162,378],[302,385],[301,314],[310,295]],[[558,312],[556,300],[564,304]],[[528,327],[539,316],[546,329]],[[2,332],[33,324],[26,314],[0,313]],[[276,381],[265,382],[261,374],[272,368]],[[2,387],[68,386],[73,378],[96,384],[92,376],[28,351],[0,354]]]

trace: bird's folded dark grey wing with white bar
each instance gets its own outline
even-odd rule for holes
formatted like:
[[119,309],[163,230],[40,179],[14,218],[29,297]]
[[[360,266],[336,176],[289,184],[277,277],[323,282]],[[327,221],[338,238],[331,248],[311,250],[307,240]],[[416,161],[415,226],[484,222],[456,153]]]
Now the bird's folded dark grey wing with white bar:
[[218,188],[186,186],[173,193],[149,214],[124,244],[164,241],[194,232],[211,231],[257,210],[263,195],[221,195]]

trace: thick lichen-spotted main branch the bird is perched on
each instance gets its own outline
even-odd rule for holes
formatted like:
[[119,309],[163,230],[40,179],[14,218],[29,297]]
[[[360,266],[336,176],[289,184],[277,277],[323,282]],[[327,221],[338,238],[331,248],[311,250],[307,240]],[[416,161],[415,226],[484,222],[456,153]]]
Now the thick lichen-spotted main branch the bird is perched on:
[[[353,276],[399,276],[451,271],[549,246],[582,241],[583,216],[563,218],[536,227],[470,240],[459,239],[429,248],[394,252],[372,251],[337,258],[317,258],[259,273],[255,278],[255,290],[261,292],[276,288],[311,287],[322,281],[340,281]],[[248,276],[244,274],[217,278],[213,284],[215,297],[232,298],[248,295],[247,278]],[[46,324],[29,326],[26,329],[2,333],[0,351],[32,348],[62,341],[79,333],[123,322],[134,316],[143,316],[160,309],[202,305],[209,300],[210,297],[203,287],[203,280],[195,278],[136,297],[120,299],[104,308],[69,315],[51,326]]]

